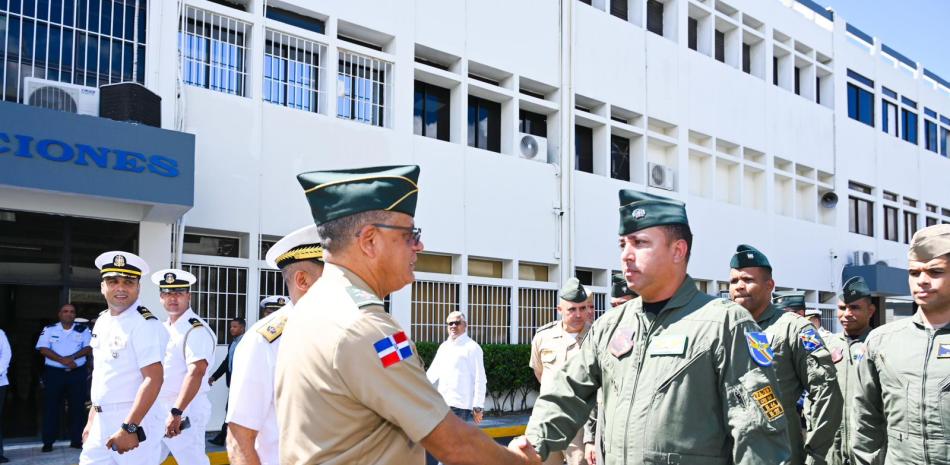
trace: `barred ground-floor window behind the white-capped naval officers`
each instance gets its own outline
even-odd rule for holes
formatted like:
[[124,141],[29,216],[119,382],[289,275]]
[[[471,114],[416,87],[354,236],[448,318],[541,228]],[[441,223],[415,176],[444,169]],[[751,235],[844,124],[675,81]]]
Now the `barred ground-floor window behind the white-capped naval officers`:
[[233,318],[247,318],[247,268],[183,263],[198,281],[191,287],[191,308],[211,326],[218,344],[228,343]]

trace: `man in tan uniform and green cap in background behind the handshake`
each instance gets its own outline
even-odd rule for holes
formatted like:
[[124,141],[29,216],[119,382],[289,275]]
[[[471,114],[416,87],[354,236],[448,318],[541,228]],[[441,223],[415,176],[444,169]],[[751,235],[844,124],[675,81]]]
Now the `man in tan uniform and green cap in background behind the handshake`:
[[[560,302],[557,312],[561,318],[538,328],[531,340],[531,360],[528,364],[542,389],[554,371],[564,366],[567,359],[580,350],[581,342],[590,329],[587,309],[589,296],[577,278],[568,279],[558,294]],[[565,460],[568,465],[586,463],[583,430],[577,432],[567,450],[552,453],[544,463],[559,465]]]

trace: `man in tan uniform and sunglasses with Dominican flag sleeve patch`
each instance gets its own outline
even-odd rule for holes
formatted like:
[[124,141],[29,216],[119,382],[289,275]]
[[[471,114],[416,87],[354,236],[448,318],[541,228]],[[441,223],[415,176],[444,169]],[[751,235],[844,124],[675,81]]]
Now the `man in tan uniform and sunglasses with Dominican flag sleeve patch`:
[[[323,275],[295,305],[277,354],[280,463],[539,463],[449,411],[406,332],[383,308],[414,279],[419,167],[298,176],[324,246]],[[533,455],[527,455],[533,454]]]

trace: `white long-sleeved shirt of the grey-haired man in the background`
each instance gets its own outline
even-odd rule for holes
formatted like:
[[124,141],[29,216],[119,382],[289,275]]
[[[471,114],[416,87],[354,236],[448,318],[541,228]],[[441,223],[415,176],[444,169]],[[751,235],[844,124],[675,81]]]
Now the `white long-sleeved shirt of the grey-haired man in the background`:
[[467,334],[447,339],[435,353],[426,376],[438,383],[439,394],[451,407],[485,407],[485,362],[482,348]]

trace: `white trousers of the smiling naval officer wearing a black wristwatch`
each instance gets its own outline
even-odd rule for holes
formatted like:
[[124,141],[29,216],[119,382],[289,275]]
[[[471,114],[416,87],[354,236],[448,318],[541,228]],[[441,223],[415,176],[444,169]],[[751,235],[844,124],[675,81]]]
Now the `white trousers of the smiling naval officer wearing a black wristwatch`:
[[[157,404],[157,402],[156,402]],[[89,428],[89,437],[82,445],[79,465],[158,465],[161,463],[162,436],[165,426],[155,405],[145,414],[140,425],[145,431],[145,441],[124,454],[106,448],[109,437],[119,431],[122,422],[132,409],[132,402],[100,406]]]

